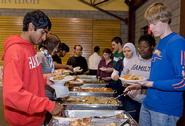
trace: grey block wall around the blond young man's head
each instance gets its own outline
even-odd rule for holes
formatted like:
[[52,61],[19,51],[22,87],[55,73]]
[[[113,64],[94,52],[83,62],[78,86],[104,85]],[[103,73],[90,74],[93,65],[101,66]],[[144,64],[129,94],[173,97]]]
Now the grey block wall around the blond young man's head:
[[169,6],[172,10],[172,23],[171,28],[173,31],[179,33],[180,32],[180,2],[181,0],[148,0],[144,5],[142,5],[136,11],[136,43],[141,36],[141,28],[147,25],[147,22],[144,19],[144,12],[146,8],[152,4],[153,2],[163,2],[167,6]]

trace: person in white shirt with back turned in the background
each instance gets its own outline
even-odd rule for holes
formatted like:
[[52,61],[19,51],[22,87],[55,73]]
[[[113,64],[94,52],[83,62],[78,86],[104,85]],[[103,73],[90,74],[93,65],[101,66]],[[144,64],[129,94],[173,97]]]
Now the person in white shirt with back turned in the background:
[[89,56],[88,67],[89,67],[89,74],[90,75],[97,74],[98,64],[100,63],[100,60],[101,60],[101,56],[99,55],[99,53],[100,53],[100,47],[95,46],[94,53]]

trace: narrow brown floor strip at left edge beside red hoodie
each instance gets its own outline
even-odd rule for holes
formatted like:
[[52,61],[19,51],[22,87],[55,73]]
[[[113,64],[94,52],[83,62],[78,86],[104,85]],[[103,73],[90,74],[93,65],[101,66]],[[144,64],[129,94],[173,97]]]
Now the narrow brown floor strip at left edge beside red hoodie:
[[2,86],[0,84],[0,126],[8,126],[4,120],[3,114]]

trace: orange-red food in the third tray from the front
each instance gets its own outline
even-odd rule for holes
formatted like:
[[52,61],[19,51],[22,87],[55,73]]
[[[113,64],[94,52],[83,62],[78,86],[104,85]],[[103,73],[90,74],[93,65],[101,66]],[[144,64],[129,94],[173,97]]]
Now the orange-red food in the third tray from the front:
[[113,92],[113,90],[111,88],[91,88],[91,87],[87,87],[87,88],[82,88],[82,87],[74,87],[73,91],[79,91],[79,92]]

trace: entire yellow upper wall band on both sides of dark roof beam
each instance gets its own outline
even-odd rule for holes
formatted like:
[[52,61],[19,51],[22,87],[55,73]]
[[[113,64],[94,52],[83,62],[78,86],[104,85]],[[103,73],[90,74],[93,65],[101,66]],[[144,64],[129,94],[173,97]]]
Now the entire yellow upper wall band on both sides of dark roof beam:
[[[116,6],[116,8],[115,8]],[[0,8],[15,9],[54,9],[54,10],[96,10],[79,0],[0,0]],[[128,6],[120,0],[115,0],[106,10],[127,11]]]

